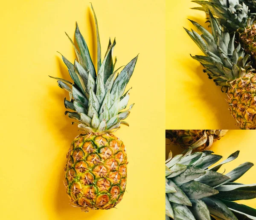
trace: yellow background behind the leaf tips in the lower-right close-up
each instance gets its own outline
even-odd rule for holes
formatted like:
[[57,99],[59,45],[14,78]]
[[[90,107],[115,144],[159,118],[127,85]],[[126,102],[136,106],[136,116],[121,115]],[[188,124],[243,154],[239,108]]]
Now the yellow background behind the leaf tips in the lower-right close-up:
[[[179,154],[184,151],[176,145],[170,145],[169,139],[166,139],[166,157],[170,150],[173,155]],[[230,172],[240,164],[244,162],[252,162],[255,165],[250,168],[241,178],[236,180],[236,182],[244,184],[256,183],[256,159],[255,159],[255,143],[256,143],[256,132],[254,130],[229,130],[227,134],[215,142],[209,150],[213,151],[215,154],[223,156],[220,160],[227,159],[231,153],[240,151],[238,158],[222,165],[218,172],[224,174]],[[256,208],[256,199],[253,200],[240,200],[238,203]]]

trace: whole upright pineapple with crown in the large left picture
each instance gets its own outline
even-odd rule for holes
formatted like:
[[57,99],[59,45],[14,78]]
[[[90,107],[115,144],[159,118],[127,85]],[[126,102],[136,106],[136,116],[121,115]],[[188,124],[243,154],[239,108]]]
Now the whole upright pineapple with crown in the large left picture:
[[[93,10],[93,6],[92,6]],[[134,72],[137,57],[121,71],[114,71],[112,51],[116,41],[109,41],[105,58],[101,61],[99,29],[93,10],[97,36],[97,68],[94,67],[83,36],[76,24],[76,42],[79,49],[68,36],[77,56],[74,64],[64,56],[73,83],[57,79],[59,87],[67,90],[69,100],[64,105],[71,111],[65,114],[75,119],[81,134],[71,143],[65,167],[65,187],[70,200],[82,211],[109,209],[118,204],[123,197],[127,179],[127,155],[124,143],[113,131],[125,120],[132,104],[124,110],[129,101],[129,91],[125,87]],[[96,71],[97,69],[97,71]],[[96,74],[97,72],[97,74]]]

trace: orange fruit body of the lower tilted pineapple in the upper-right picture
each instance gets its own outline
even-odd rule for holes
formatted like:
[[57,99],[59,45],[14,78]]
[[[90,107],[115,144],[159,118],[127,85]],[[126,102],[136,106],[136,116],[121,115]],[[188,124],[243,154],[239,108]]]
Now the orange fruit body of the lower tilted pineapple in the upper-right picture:
[[248,73],[230,82],[227,102],[241,129],[256,129],[256,75]]

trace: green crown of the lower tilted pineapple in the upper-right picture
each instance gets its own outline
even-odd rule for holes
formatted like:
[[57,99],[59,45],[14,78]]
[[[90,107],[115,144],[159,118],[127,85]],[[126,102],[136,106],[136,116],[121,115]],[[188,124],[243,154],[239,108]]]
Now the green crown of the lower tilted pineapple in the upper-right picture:
[[185,30],[205,55],[195,55],[192,58],[202,64],[205,68],[204,72],[210,79],[213,79],[216,85],[227,90],[230,86],[228,82],[254,70],[251,66],[250,55],[246,55],[239,43],[236,46],[235,33],[230,38],[227,28],[224,25],[221,26],[210,11],[209,22],[212,34],[195,21],[190,21],[202,35],[194,30]]

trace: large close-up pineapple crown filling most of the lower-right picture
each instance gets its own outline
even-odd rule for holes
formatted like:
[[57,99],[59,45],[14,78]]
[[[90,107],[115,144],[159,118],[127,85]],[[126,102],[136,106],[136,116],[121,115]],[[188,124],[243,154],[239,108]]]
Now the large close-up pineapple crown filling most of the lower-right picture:
[[238,155],[236,151],[214,165],[222,156],[212,151],[192,153],[189,148],[184,156],[167,159],[166,220],[255,220],[256,209],[233,202],[256,198],[256,184],[234,182],[253,164],[245,162],[225,175],[217,172]]

